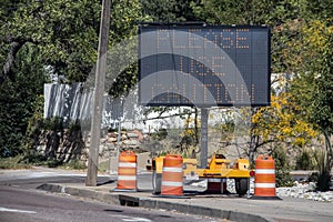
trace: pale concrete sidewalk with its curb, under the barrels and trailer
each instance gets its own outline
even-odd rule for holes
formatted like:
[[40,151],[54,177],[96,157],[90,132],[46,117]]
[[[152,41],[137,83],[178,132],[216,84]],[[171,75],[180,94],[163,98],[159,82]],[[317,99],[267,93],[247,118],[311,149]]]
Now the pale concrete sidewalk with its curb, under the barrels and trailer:
[[[185,195],[185,198],[160,198],[148,189],[138,192],[114,192],[115,182],[99,186],[82,183],[48,183],[39,189],[61,192],[105,203],[164,209],[189,214],[208,215],[230,221],[246,222],[332,222],[333,204],[301,199],[252,200],[235,194]],[[139,186],[140,188],[140,186]]]

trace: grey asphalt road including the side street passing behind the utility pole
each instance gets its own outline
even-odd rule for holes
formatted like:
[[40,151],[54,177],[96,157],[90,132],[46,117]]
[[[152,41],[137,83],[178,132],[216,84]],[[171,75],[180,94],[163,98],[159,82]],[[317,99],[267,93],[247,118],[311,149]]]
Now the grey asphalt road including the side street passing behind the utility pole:
[[[0,172],[0,221],[1,222],[202,222],[214,219],[104,204],[65,194],[36,190],[46,182],[84,181],[84,175],[67,175],[34,171]],[[99,178],[100,182],[112,182]]]

